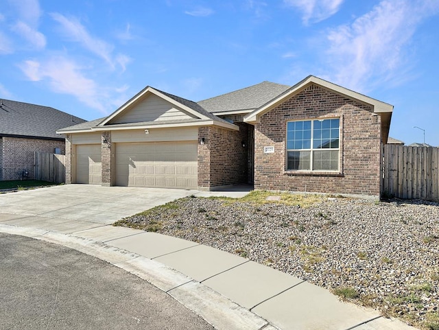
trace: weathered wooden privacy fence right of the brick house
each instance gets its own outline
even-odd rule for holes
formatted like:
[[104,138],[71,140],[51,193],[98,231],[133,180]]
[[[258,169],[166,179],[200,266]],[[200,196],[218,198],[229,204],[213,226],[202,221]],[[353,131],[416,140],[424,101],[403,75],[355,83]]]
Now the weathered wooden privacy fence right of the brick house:
[[439,148],[383,145],[381,192],[439,201]]

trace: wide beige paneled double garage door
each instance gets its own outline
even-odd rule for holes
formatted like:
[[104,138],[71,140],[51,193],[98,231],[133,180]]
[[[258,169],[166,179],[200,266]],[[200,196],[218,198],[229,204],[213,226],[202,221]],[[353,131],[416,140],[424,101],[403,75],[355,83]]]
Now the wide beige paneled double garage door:
[[116,185],[196,189],[196,141],[116,144]]

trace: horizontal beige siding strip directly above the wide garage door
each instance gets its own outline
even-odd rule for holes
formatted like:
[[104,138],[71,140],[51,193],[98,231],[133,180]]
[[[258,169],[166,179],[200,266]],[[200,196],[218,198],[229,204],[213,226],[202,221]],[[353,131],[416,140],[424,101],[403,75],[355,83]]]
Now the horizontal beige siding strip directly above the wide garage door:
[[118,142],[158,142],[158,141],[195,141],[198,128],[150,128],[145,130],[115,130],[111,132],[111,141]]

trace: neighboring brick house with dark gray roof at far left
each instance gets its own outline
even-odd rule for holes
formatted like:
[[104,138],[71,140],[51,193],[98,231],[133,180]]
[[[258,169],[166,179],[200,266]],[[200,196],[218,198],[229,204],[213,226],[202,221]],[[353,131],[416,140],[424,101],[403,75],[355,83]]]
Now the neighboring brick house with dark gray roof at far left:
[[0,99],[0,180],[34,178],[34,151],[64,154],[56,130],[82,122],[47,106]]

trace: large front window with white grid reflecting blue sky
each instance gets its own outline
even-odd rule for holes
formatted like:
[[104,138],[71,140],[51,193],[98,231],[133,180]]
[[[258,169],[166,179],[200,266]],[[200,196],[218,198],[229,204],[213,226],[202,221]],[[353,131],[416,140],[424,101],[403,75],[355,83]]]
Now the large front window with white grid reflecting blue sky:
[[338,171],[340,119],[287,122],[287,169]]

